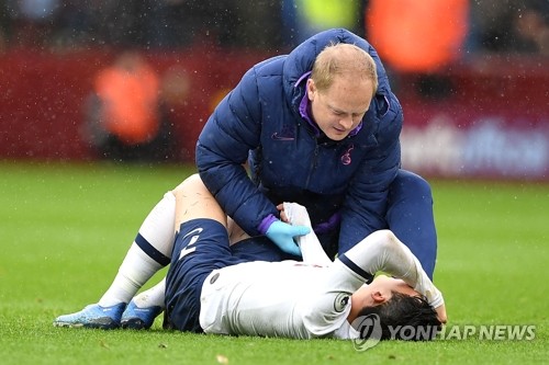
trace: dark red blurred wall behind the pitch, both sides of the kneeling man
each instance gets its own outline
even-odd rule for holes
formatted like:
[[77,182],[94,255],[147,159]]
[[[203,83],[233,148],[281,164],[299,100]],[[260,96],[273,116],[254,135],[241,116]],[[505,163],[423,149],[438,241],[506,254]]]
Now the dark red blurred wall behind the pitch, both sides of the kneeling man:
[[[0,158],[92,159],[80,136],[83,102],[96,72],[110,65],[115,52],[41,53],[13,49],[0,55]],[[172,66],[191,80],[186,103],[175,106],[180,161],[192,162],[197,137],[220,93],[234,87],[243,73],[268,55],[194,47],[166,54],[145,54],[158,72]],[[504,115],[525,128],[549,123],[549,60],[482,58],[452,66],[444,73],[451,83],[446,96],[426,96],[417,75],[393,76],[405,125],[422,125],[446,111],[459,126],[479,116]]]

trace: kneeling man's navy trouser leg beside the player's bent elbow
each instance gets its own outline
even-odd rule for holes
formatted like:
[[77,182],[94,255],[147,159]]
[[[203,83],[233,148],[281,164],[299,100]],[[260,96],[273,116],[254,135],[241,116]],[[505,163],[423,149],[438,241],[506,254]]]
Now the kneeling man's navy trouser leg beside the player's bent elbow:
[[410,248],[433,280],[437,232],[429,184],[410,171],[400,170],[389,189],[388,204],[389,229]]

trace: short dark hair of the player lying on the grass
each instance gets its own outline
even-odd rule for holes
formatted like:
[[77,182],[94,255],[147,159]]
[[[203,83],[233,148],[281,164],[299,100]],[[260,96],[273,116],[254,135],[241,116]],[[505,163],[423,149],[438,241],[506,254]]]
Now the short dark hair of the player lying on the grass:
[[380,340],[433,340],[441,329],[435,309],[422,296],[392,292],[392,297],[379,306],[363,307],[358,317],[377,315],[381,324]]

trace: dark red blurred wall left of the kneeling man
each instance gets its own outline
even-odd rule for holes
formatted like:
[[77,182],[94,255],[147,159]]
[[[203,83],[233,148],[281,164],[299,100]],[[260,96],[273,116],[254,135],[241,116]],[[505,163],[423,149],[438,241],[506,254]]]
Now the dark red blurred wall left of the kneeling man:
[[[115,57],[115,52],[98,50],[15,49],[0,55],[0,158],[91,159],[80,135],[85,101],[94,75]],[[192,161],[194,142],[220,93],[266,56],[194,48],[145,57],[159,73],[178,67],[190,79],[184,103],[171,105],[169,117],[180,149],[177,159]]]

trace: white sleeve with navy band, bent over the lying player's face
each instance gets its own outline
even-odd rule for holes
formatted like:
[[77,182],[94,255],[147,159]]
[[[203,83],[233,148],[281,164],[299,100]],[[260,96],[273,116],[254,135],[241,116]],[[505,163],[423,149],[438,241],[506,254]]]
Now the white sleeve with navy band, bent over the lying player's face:
[[444,304],[442,294],[410,249],[390,230],[379,230],[339,255],[318,277],[314,294],[300,308],[307,331],[313,337],[336,332],[347,320],[351,295],[381,271],[402,278],[434,308]]

